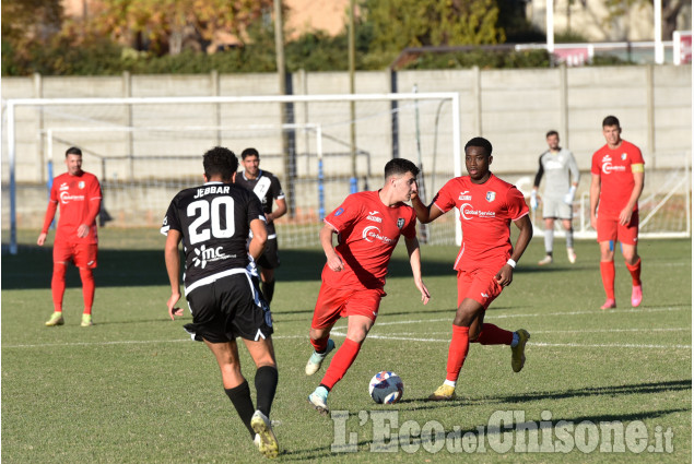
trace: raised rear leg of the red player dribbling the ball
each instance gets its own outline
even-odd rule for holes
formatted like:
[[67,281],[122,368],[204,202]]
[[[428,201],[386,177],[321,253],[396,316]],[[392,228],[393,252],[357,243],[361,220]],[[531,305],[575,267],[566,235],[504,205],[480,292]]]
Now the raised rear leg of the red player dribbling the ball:
[[314,347],[314,353],[311,353],[306,362],[306,376],[316,373],[320,369],[324,359],[334,349],[334,342],[330,338],[330,331],[340,319],[340,312],[349,295],[349,293],[340,292],[327,285],[320,286],[309,331],[309,341]]

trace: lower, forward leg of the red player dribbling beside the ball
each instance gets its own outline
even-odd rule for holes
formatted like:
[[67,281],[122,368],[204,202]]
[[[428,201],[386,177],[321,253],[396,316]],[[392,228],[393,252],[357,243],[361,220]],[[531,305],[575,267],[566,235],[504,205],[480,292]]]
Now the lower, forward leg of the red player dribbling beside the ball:
[[385,295],[383,290],[353,292],[344,304],[344,314],[348,317],[346,337],[332,357],[320,384],[308,396],[309,403],[319,413],[328,413],[328,393],[344,377],[356,359],[362,343],[374,326],[383,295]]

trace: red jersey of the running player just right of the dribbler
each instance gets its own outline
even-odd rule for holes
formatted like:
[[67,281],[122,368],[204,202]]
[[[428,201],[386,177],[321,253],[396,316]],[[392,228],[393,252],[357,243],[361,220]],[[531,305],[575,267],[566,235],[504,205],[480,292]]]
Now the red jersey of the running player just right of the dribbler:
[[436,193],[434,205],[444,213],[454,206],[460,212],[462,243],[456,271],[501,269],[514,249],[510,222],[528,214],[522,193],[493,174],[484,183],[473,183],[470,176],[450,179]]

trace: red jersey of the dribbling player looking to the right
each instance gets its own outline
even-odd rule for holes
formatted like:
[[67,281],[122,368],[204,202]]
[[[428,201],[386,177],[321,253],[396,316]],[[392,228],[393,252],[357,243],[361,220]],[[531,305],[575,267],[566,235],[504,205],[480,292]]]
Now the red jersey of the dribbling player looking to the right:
[[416,236],[414,209],[404,203],[388,207],[377,191],[349,195],[324,221],[339,233],[336,252],[344,269],[333,272],[326,264],[322,270],[322,282],[337,288],[383,288],[400,236]]

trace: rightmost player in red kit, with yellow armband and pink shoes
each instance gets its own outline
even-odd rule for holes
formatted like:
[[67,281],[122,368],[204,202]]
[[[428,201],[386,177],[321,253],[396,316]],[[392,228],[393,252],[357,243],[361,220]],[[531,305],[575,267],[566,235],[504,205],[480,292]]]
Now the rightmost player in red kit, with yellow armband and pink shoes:
[[614,243],[620,241],[626,269],[632,274],[632,306],[642,302],[638,241],[638,198],[644,190],[644,157],[622,139],[620,120],[602,120],[608,142],[592,155],[590,167],[590,225],[598,231],[600,274],[607,299],[600,309],[616,308],[614,300]]

